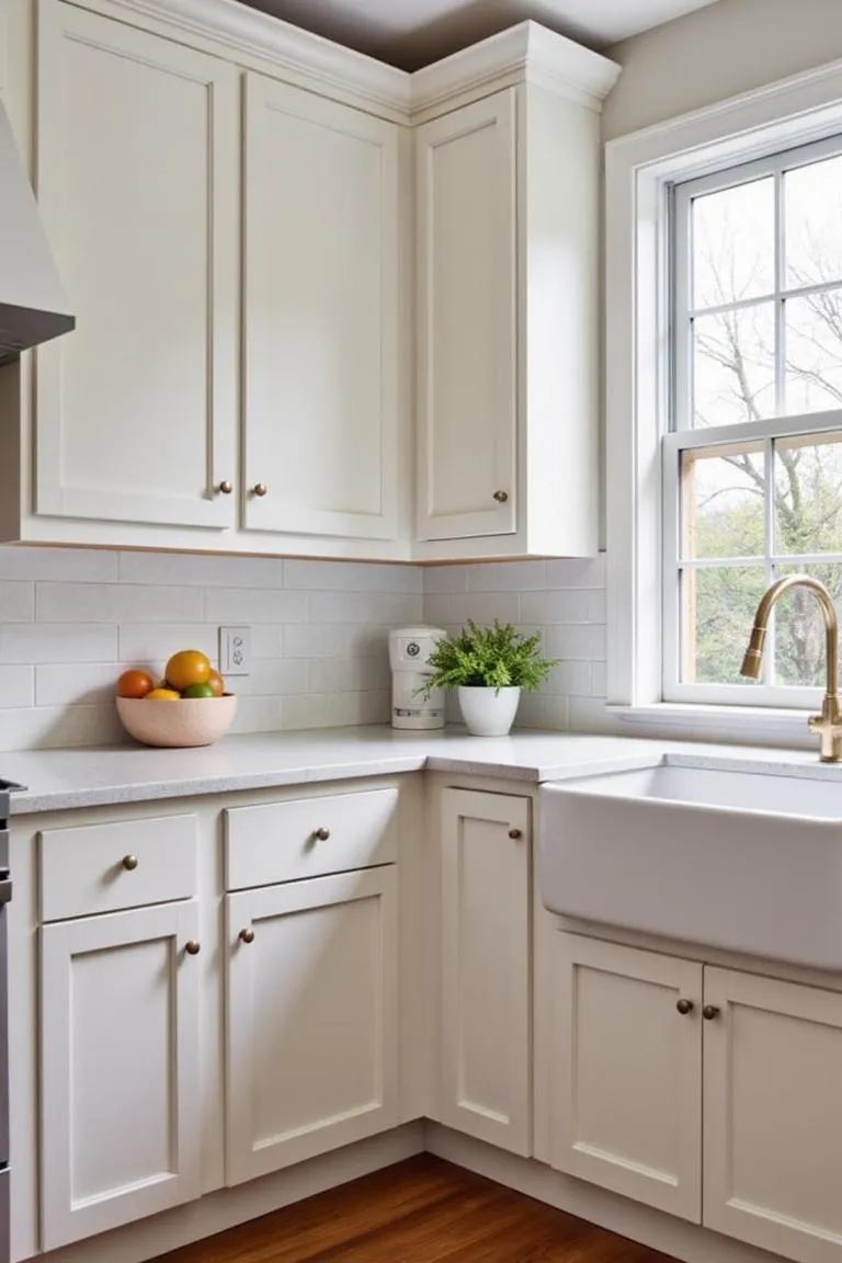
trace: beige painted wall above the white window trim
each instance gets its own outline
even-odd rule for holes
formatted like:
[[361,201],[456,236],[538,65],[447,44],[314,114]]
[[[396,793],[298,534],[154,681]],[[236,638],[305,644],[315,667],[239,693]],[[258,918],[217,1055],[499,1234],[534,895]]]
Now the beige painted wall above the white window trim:
[[842,58],[842,0],[718,0],[607,49],[606,140]]

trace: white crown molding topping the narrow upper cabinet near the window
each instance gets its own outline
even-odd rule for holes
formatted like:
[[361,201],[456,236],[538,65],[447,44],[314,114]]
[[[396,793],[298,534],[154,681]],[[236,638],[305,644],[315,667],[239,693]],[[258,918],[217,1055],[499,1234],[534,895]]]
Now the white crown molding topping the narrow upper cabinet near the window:
[[596,112],[621,67],[537,21],[521,21],[412,76],[412,116],[430,117],[511,82],[538,83]]

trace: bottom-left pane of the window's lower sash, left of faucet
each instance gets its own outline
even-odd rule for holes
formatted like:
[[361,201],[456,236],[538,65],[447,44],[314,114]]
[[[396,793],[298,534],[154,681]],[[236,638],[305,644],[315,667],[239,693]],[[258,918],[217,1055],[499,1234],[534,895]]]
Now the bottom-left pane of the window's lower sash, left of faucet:
[[685,683],[749,683],[740,674],[740,664],[765,589],[762,566],[715,566],[682,572]]

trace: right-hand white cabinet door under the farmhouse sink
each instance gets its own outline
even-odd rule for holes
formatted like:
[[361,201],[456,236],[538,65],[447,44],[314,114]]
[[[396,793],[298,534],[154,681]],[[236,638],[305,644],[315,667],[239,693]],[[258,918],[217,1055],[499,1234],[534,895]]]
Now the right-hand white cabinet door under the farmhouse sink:
[[706,969],[704,1000],[706,1226],[838,1263],[842,995]]

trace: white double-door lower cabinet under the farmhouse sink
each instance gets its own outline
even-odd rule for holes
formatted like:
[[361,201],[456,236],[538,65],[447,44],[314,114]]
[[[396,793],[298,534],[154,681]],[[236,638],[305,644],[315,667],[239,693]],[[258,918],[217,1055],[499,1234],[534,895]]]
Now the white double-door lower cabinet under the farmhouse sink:
[[842,994],[564,931],[554,986],[554,1167],[838,1263]]

